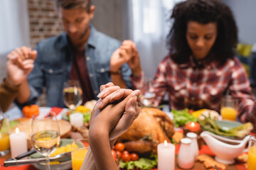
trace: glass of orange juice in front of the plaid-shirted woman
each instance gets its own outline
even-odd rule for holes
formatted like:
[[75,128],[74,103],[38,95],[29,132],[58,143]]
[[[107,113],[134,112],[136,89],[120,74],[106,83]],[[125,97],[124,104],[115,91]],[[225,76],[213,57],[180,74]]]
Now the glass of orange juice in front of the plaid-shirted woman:
[[236,120],[238,115],[238,98],[224,96],[221,100],[220,115],[224,120]]

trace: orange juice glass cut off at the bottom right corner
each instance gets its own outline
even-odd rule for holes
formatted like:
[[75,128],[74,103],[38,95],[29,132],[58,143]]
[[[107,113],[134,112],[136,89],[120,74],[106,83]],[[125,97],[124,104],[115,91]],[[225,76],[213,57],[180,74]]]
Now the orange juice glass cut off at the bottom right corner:
[[256,169],[256,135],[250,136],[248,151],[248,170]]

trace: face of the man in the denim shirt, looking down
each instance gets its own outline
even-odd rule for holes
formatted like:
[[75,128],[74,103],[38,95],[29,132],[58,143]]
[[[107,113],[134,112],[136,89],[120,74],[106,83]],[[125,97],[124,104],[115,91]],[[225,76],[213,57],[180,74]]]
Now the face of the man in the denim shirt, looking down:
[[90,30],[90,20],[94,15],[94,6],[90,7],[88,13],[85,8],[65,9],[59,8],[59,16],[63,27],[73,43],[80,43]]

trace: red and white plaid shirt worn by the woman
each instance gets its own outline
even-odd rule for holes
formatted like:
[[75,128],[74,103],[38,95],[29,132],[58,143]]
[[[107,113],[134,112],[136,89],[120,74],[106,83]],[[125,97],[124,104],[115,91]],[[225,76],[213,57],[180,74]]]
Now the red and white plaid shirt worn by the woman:
[[[145,91],[143,73],[132,77],[132,82],[134,88]],[[176,64],[167,56],[159,64],[149,91],[156,94],[151,101],[156,107],[168,92],[172,109],[208,108],[218,112],[221,98],[231,94],[239,99],[238,118],[242,122],[250,117],[255,105],[245,69],[235,57],[220,65],[213,57],[197,63],[191,57],[190,62]]]

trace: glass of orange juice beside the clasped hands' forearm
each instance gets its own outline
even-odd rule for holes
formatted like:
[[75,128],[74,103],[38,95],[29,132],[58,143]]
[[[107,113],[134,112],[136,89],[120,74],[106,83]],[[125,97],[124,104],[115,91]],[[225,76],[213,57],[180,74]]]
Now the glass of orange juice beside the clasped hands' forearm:
[[75,140],[71,145],[72,169],[80,170],[88,151],[86,140]]

